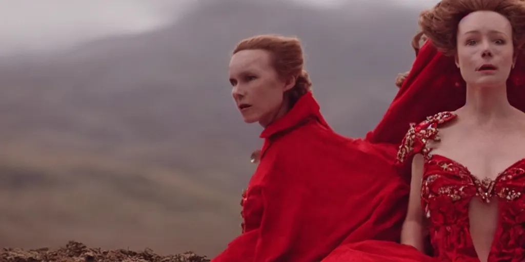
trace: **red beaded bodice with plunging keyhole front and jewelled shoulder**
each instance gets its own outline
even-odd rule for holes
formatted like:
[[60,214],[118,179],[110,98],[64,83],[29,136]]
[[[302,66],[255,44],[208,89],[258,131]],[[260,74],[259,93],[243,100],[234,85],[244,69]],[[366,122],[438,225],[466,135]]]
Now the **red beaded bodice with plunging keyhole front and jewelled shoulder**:
[[439,125],[454,118],[454,113],[443,112],[412,124],[397,155],[400,163],[415,154],[423,155],[421,204],[429,222],[434,256],[446,261],[479,261],[469,232],[468,212],[470,201],[479,199],[498,203],[498,225],[488,261],[523,261],[525,159],[499,173],[495,180],[480,180],[461,163],[432,154],[429,145],[439,141]]

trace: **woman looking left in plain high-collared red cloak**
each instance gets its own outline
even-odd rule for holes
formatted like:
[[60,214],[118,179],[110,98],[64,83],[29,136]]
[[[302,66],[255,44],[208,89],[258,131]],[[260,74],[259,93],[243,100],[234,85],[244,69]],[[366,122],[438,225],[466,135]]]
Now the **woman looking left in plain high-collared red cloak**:
[[320,114],[296,38],[241,41],[229,64],[244,121],[264,127],[243,194],[242,233],[213,262],[320,261],[342,242],[398,241],[408,184],[397,147],[336,134]]

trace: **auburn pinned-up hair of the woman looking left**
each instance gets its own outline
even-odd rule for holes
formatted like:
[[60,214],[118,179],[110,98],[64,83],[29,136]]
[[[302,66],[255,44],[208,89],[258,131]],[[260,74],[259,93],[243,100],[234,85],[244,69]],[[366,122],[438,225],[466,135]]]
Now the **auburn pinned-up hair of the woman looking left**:
[[279,35],[258,35],[240,41],[233,54],[255,49],[266,50],[271,54],[272,65],[279,77],[296,78],[296,84],[286,93],[290,106],[311,90],[312,82],[303,69],[304,57],[299,39]]

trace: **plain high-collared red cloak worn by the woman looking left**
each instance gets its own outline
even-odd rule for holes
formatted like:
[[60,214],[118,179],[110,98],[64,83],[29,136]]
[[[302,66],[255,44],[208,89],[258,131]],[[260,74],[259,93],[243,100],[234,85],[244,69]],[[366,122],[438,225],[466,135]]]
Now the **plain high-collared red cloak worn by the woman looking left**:
[[409,187],[396,146],[338,135],[311,93],[261,138],[243,233],[213,262],[320,261],[341,243],[398,240]]

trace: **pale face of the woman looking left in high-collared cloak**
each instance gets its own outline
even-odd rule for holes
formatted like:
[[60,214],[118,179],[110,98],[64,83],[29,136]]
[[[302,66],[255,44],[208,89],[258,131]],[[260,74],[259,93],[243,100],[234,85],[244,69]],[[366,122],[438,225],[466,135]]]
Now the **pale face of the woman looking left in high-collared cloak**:
[[282,80],[272,66],[271,54],[265,50],[243,50],[229,63],[232,95],[246,123],[268,126],[280,117],[284,93],[295,84]]

